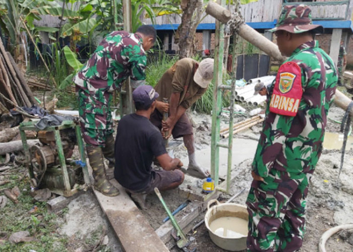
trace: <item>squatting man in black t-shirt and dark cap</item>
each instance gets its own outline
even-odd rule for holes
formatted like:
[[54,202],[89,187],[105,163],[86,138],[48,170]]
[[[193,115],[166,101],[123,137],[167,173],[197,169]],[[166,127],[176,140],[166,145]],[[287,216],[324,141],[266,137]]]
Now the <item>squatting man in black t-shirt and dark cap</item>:
[[[184,181],[184,173],[178,169],[183,163],[167,154],[160,131],[149,121],[158,96],[151,86],[136,88],[133,92],[136,112],[124,116],[116,132],[114,177],[141,208],[146,208],[146,195],[154,187],[165,191]],[[153,156],[163,170],[152,169]]]

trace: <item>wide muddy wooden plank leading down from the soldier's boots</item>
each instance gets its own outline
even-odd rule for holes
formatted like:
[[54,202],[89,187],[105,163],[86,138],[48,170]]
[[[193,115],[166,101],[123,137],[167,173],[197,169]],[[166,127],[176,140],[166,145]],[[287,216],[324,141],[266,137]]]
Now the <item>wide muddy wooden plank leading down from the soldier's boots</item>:
[[169,251],[124,188],[115,179],[110,182],[119,188],[118,196],[107,197],[93,191],[124,250]]

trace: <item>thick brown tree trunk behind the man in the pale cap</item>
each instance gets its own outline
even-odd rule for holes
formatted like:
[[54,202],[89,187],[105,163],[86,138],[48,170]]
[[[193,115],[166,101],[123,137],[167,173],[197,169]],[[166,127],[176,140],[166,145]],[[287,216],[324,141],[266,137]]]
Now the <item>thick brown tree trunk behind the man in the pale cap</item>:
[[202,13],[202,0],[182,0],[182,23],[175,33],[175,43],[179,44],[179,57],[185,58],[195,54],[195,33]]

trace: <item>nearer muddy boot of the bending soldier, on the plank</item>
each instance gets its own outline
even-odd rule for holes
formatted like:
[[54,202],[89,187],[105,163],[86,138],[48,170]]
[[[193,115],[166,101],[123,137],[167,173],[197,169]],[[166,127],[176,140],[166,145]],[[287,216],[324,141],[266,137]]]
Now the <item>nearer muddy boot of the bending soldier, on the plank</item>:
[[86,146],[89,164],[92,167],[94,177],[94,188],[106,196],[119,195],[119,190],[115,188],[106,178],[103,163],[102,148],[92,145]]

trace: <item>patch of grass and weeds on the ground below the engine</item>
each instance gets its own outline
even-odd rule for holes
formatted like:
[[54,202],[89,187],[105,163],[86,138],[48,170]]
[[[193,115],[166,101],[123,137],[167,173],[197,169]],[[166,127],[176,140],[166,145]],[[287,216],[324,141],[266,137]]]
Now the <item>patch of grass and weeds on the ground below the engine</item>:
[[[8,201],[4,208],[0,209],[1,231],[9,237],[12,233],[18,231],[29,231],[30,236],[38,241],[20,242],[12,244],[6,241],[0,245],[1,251],[22,252],[35,250],[40,251],[67,251],[66,243],[61,241],[66,236],[59,237],[56,233],[58,224],[56,223],[56,215],[47,212],[46,203],[37,202],[37,210],[34,213],[29,211],[34,207],[33,198],[30,195],[30,186],[28,178],[18,180],[26,168],[15,168],[16,176],[13,184],[5,184],[1,188],[12,188],[17,185],[20,188],[21,195],[18,197],[19,203],[14,204]],[[53,247],[55,244],[55,247]]]

